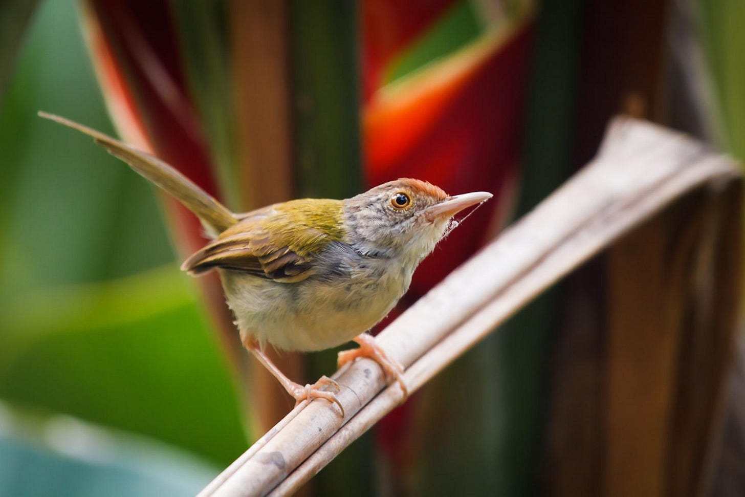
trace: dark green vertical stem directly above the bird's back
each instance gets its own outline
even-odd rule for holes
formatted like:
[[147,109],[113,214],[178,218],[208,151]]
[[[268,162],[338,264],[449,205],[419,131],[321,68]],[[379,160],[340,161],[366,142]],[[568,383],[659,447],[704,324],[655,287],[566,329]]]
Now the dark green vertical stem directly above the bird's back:
[[353,1],[290,2],[298,191],[346,198],[362,186],[358,11]]

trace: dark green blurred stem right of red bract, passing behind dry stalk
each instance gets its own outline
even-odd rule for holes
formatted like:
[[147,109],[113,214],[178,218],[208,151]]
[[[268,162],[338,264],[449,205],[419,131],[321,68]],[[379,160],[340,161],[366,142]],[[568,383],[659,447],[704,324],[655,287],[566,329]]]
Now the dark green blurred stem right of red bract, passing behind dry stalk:
[[[571,170],[568,123],[582,5],[546,2],[536,19],[514,218],[530,212]],[[548,291],[431,382],[420,422],[440,436],[422,441],[416,493],[536,494],[558,306],[557,289]]]

